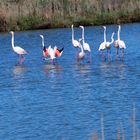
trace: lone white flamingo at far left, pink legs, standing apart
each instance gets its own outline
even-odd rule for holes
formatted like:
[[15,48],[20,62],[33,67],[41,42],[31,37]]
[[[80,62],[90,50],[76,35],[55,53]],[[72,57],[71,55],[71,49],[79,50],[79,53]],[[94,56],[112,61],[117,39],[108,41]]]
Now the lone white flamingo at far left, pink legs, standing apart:
[[11,39],[12,48],[13,48],[14,52],[19,55],[19,57],[20,57],[19,63],[22,64],[26,60],[26,58],[23,55],[27,54],[27,52],[23,48],[14,45],[14,32],[10,31],[10,33],[12,35],[12,39]]

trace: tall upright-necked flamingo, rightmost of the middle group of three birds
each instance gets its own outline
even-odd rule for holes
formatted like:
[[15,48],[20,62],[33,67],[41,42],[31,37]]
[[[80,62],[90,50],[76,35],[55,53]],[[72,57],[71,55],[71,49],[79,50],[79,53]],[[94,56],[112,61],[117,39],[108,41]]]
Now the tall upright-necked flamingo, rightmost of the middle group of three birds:
[[82,41],[83,41],[83,49],[85,52],[90,53],[90,63],[91,63],[91,49],[88,43],[85,42],[85,33],[84,33],[84,26],[79,26],[82,29]]

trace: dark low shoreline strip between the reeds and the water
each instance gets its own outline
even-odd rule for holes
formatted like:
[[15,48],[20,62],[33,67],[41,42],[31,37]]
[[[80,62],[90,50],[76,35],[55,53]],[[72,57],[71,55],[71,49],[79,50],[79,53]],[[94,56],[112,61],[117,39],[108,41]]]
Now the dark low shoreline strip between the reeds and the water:
[[[45,21],[44,21],[45,22]],[[130,19],[121,19],[118,21],[100,21],[100,22],[88,22],[88,20],[79,20],[78,22],[74,21],[74,22],[69,22],[67,24],[60,22],[55,24],[55,21],[53,23],[43,23],[43,24],[35,24],[32,26],[22,26],[21,25],[14,25],[12,27],[7,26],[6,28],[3,28],[0,30],[0,32],[8,32],[8,31],[30,31],[30,30],[43,30],[43,29],[57,29],[57,28],[69,28],[71,27],[72,24],[74,24],[75,27],[78,27],[79,25],[83,25],[83,26],[101,26],[101,25],[112,25],[112,24],[129,24],[129,23],[140,23],[140,19],[136,19],[136,20],[130,20]]]

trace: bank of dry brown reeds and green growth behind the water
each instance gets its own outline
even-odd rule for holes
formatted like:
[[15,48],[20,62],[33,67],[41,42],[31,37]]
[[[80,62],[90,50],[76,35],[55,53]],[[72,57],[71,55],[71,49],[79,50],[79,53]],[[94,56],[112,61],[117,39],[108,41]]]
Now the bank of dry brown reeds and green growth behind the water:
[[0,0],[0,31],[140,22],[140,0]]

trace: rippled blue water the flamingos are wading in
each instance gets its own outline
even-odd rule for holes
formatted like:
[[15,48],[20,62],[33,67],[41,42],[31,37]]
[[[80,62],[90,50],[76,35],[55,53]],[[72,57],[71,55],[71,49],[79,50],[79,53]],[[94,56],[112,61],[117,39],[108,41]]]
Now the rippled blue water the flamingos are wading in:
[[[107,26],[107,38],[117,26]],[[46,64],[45,45],[65,47],[58,64]],[[126,42],[125,61],[102,62],[98,47],[102,27],[85,28],[92,49],[92,65],[77,64],[71,45],[71,29],[16,32],[15,44],[29,55],[23,65],[12,51],[11,36],[0,35],[0,139],[2,140],[91,140],[101,139],[101,116],[105,139],[116,140],[118,129],[132,139],[133,104],[136,108],[137,137],[140,136],[140,24],[122,25]],[[81,29],[75,28],[75,38]],[[115,35],[116,38],[116,35]],[[121,130],[122,131],[122,130]]]

